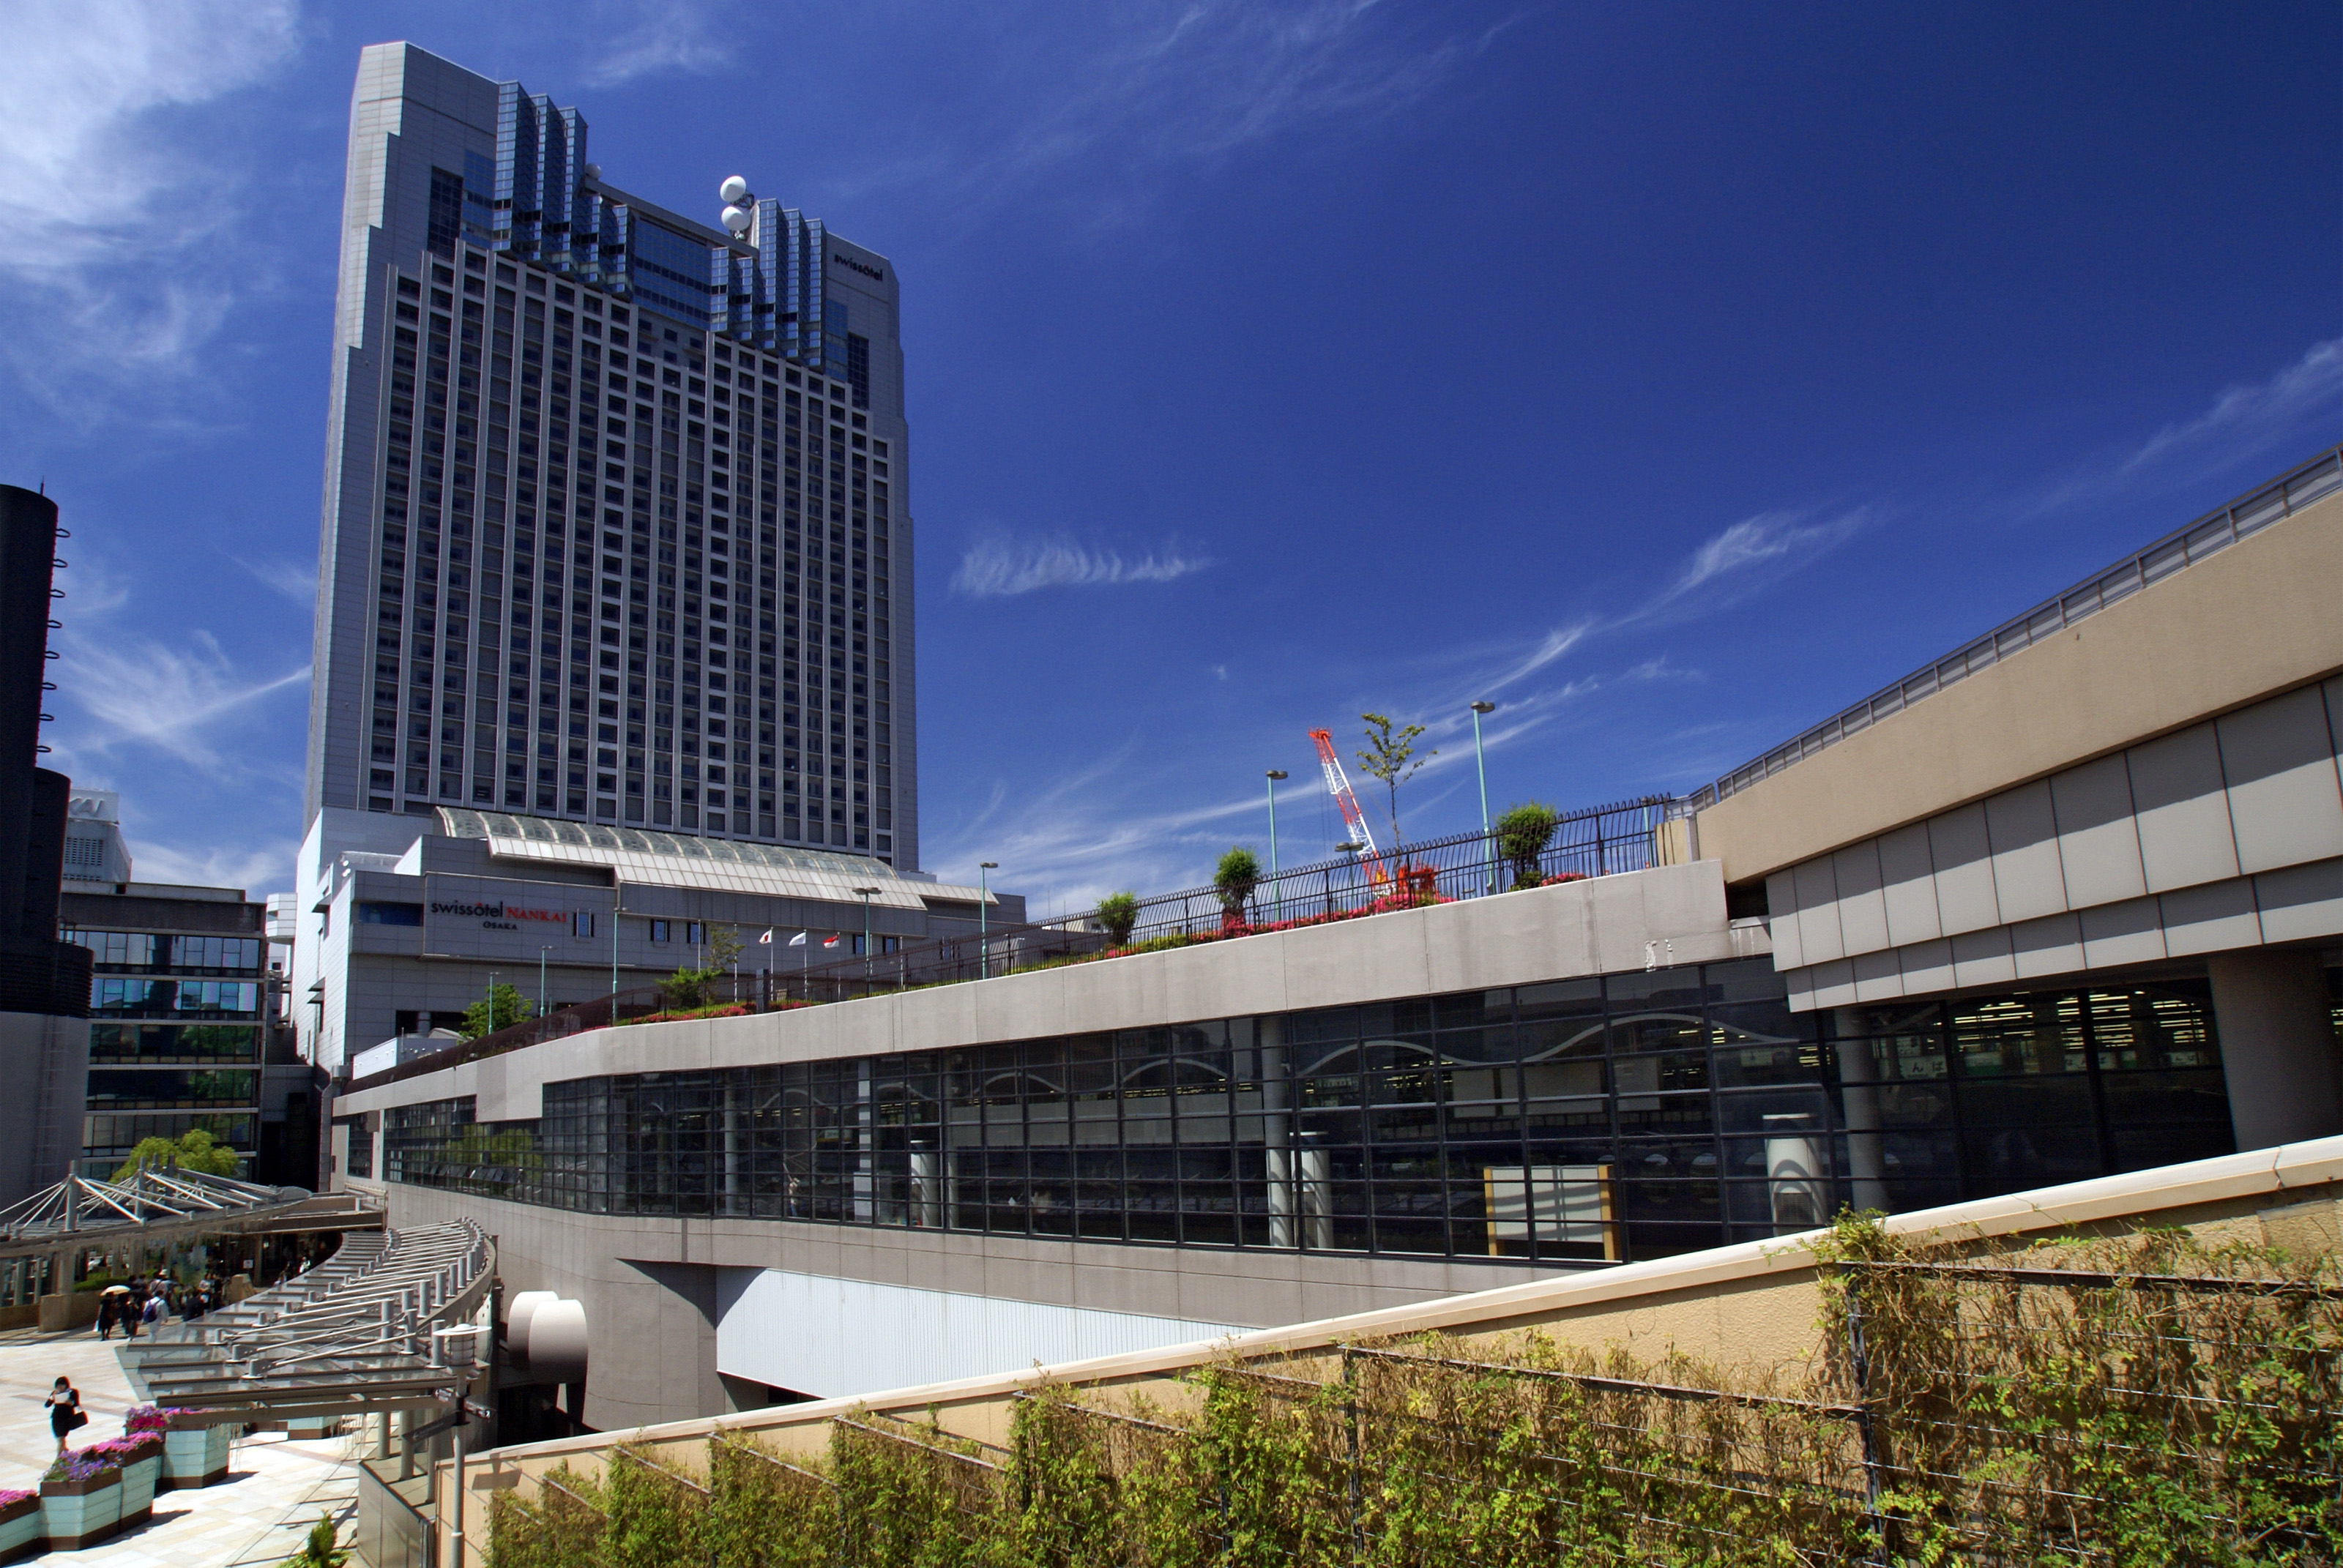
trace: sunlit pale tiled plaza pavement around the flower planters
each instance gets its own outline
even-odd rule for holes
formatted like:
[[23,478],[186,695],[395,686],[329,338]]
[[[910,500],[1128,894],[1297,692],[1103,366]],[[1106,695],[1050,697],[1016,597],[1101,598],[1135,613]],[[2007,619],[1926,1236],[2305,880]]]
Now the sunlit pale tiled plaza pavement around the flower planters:
[[[42,1399],[63,1373],[82,1390],[89,1425],[75,1446],[119,1437],[122,1413],[134,1404],[129,1378],[115,1350],[96,1334],[0,1334],[0,1486],[40,1486],[40,1472],[56,1453]],[[37,1563],[61,1568],[258,1568],[281,1563],[300,1549],[321,1512],[351,1535],[358,1470],[356,1439],[286,1441],[284,1432],[237,1439],[227,1479],[194,1491],[155,1493],[155,1519],[127,1535],[84,1552],[49,1552]]]

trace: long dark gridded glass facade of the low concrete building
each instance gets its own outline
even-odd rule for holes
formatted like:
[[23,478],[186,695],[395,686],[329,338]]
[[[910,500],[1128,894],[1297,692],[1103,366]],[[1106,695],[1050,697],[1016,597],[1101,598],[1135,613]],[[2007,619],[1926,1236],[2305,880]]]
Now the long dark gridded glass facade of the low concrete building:
[[1762,959],[581,1078],[534,1123],[384,1127],[391,1181],[593,1214],[1574,1263],[2231,1148],[2202,982],[1825,1017]]

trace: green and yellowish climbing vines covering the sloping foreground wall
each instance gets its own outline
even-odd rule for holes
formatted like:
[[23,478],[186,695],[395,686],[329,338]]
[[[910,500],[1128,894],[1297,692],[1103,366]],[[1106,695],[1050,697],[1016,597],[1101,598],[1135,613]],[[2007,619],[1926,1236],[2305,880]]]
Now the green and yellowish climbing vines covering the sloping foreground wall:
[[858,1411],[825,1460],[726,1432],[705,1484],[619,1448],[600,1486],[499,1495],[490,1568],[2338,1561],[2331,1256],[2179,1233],[1989,1256],[1877,1216],[1821,1254],[1823,1357],[1778,1385],[1422,1336],[1211,1364],[1172,1409],[1040,1388],[1007,1451]]

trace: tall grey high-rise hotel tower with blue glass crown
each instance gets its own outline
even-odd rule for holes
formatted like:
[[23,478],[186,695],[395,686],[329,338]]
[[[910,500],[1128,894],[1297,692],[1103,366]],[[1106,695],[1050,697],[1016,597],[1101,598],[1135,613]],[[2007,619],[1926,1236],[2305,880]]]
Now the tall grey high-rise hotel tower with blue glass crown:
[[[694,171],[710,211],[729,169]],[[895,267],[412,45],[358,61],[307,818],[918,865]],[[347,818],[342,818],[347,820]]]

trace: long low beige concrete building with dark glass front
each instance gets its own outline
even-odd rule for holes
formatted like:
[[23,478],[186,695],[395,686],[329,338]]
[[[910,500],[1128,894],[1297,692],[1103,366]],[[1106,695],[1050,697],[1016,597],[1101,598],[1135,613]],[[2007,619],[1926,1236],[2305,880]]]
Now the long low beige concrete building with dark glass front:
[[2322,452],[1640,870],[361,1078],[340,1179],[583,1301],[616,1427],[2334,1134],[2338,600]]

